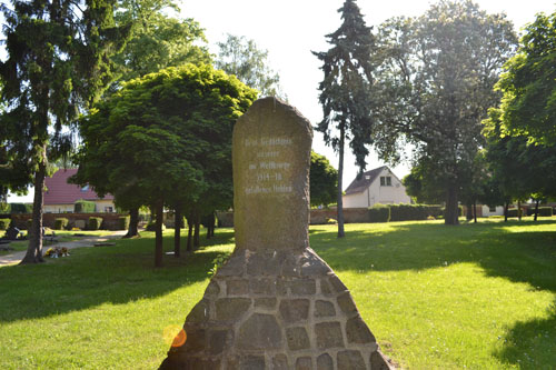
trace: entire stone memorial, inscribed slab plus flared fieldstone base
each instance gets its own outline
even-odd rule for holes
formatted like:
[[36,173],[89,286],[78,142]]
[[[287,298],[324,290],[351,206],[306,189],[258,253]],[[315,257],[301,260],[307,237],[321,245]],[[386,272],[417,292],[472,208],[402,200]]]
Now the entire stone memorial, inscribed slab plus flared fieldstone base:
[[236,123],[236,249],[161,369],[390,368],[346,286],[309,248],[311,140],[310,123],[274,98]]

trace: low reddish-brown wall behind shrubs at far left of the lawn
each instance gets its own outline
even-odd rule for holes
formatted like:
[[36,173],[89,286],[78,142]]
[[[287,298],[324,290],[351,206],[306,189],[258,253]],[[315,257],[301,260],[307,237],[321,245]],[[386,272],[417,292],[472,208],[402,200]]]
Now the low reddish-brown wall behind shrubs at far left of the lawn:
[[[87,222],[90,217],[100,217],[102,219],[102,224],[100,228],[102,230],[119,230],[119,218],[120,213],[43,213],[42,222],[47,228],[54,227],[54,220],[58,218],[66,218],[69,220],[68,228],[80,228],[81,226],[87,227]],[[11,221],[16,226],[16,228],[20,230],[27,230],[27,220],[30,220],[32,217],[31,213],[14,213],[11,214]]]

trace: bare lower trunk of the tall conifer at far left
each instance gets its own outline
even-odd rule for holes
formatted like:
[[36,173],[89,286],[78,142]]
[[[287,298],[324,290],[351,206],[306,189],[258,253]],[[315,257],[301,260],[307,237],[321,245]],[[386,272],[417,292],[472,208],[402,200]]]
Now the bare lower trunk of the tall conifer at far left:
[[29,230],[29,244],[27,247],[26,257],[20,264],[44,262],[42,259],[42,212],[43,199],[42,190],[44,189],[44,176],[47,173],[46,157],[39,163],[39,169],[34,173],[34,199],[31,229]]

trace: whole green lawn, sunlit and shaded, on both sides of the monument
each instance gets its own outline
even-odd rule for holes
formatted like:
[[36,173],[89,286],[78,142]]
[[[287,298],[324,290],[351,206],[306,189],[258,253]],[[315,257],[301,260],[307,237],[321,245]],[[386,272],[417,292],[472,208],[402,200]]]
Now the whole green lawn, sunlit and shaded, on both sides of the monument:
[[[172,249],[173,230],[165,249]],[[410,369],[553,369],[556,220],[347,224],[311,247],[351,290],[383,350]],[[153,234],[0,268],[1,369],[157,368],[231,229],[153,269]]]

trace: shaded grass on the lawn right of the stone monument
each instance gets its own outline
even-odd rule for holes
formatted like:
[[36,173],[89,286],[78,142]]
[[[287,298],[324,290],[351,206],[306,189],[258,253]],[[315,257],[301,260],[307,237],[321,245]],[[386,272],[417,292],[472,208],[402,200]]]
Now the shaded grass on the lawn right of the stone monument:
[[[466,223],[391,223],[369,230],[336,230],[311,234],[311,247],[336,271],[424,270],[473,262],[487,276],[525,282],[532,289],[556,293],[556,231],[535,231],[533,226],[555,221]],[[512,231],[508,230],[512,227]],[[520,231],[523,229],[523,231]],[[533,230],[533,231],[532,231]],[[556,301],[546,319],[518,322],[508,330],[505,346],[494,353],[503,362],[537,369],[556,363]],[[542,359],[542,360],[539,360]]]

